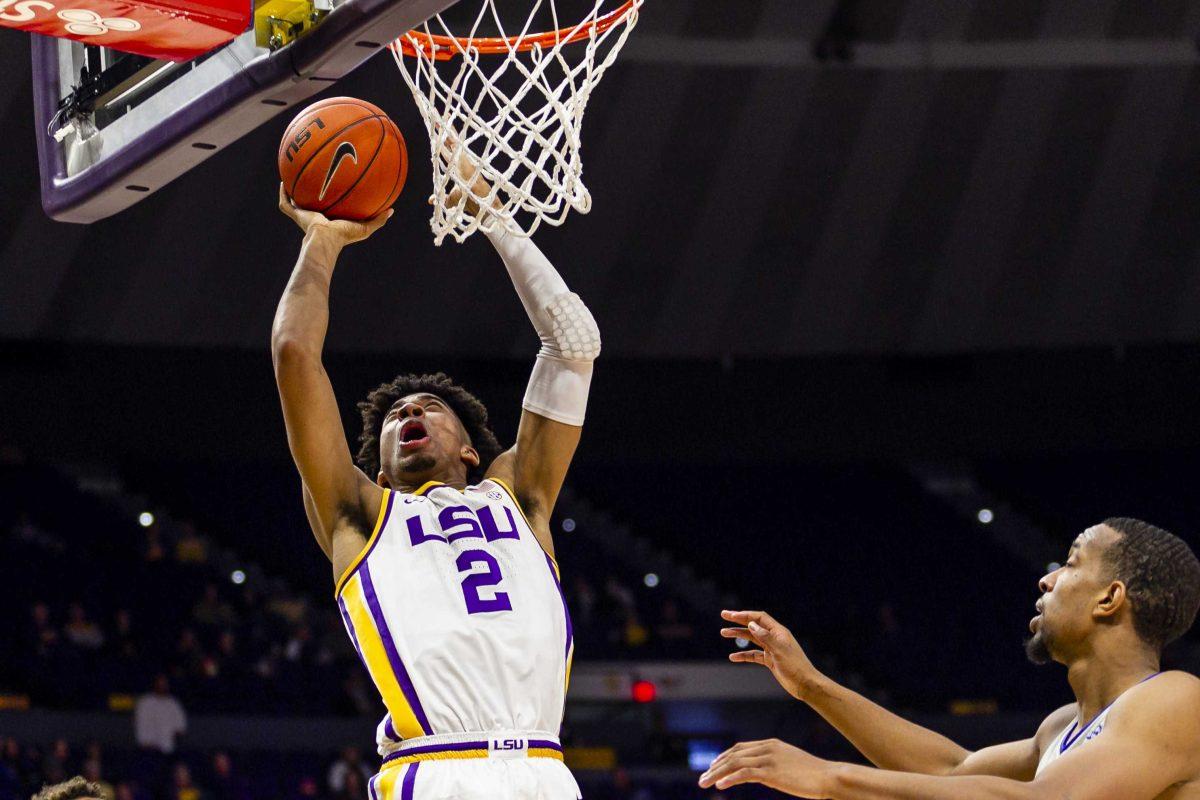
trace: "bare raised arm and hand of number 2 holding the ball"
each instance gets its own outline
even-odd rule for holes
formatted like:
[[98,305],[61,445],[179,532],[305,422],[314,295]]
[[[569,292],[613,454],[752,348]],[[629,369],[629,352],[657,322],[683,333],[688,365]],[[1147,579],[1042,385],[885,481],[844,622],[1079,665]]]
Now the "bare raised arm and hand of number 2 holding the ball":
[[[346,245],[361,241],[390,212],[364,223],[330,221],[295,207],[280,188],[280,210],[305,231],[300,257],[275,312],[271,360],[288,446],[306,488],[306,511],[322,549],[337,564],[338,531],[362,536],[383,489],[354,465],[334,387],[322,363],[329,327],[329,287]],[[311,500],[311,504],[310,504]],[[346,552],[355,552],[349,542]]]

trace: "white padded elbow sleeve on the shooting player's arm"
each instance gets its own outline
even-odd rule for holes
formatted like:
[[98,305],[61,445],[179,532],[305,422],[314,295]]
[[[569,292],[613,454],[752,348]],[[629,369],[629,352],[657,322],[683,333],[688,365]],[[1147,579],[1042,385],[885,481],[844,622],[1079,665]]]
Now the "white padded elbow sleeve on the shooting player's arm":
[[592,312],[529,239],[498,231],[488,240],[541,339],[523,408],[565,425],[583,425],[600,327]]

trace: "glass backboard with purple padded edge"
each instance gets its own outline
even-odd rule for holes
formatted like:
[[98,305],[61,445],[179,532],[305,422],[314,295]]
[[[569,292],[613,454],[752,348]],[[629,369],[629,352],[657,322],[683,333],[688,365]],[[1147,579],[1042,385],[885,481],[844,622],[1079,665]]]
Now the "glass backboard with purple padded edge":
[[250,30],[186,62],[34,36],[42,206],[78,223],[127,209],[454,1],[342,0],[302,11],[295,38],[256,2]]

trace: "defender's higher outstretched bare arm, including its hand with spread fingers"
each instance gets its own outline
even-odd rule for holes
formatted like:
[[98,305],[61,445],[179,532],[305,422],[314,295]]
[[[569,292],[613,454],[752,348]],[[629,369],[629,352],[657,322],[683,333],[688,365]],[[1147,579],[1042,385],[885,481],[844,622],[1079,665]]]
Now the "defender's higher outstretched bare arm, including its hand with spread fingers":
[[[731,661],[770,669],[792,697],[808,703],[876,766],[923,775],[998,775],[1026,781],[1033,777],[1038,764],[1034,739],[972,753],[823,675],[792,632],[770,614],[726,610],[721,616],[737,626],[721,628],[721,636],[745,638],[760,648],[732,652]],[[1061,716],[1056,712],[1056,718]],[[1068,721],[1062,720],[1063,724]]]

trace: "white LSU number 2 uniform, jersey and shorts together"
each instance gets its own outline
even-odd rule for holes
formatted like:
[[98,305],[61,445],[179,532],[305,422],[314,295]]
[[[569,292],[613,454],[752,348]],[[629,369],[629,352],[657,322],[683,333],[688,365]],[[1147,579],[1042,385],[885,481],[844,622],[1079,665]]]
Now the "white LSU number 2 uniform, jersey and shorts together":
[[[434,796],[420,786],[446,783],[455,763],[455,780],[490,782],[480,796],[578,796],[557,738],[571,619],[558,565],[509,487],[488,479],[462,491],[439,482],[412,494],[385,491],[374,531],[335,596],[388,710],[372,798]],[[494,764],[457,760],[464,758]],[[528,772],[532,794],[497,793],[497,780],[521,781],[512,769],[504,778],[488,769],[516,768],[514,758],[528,759],[518,772]],[[415,781],[421,762],[433,763]],[[449,784],[437,796],[445,793],[473,796]]]

